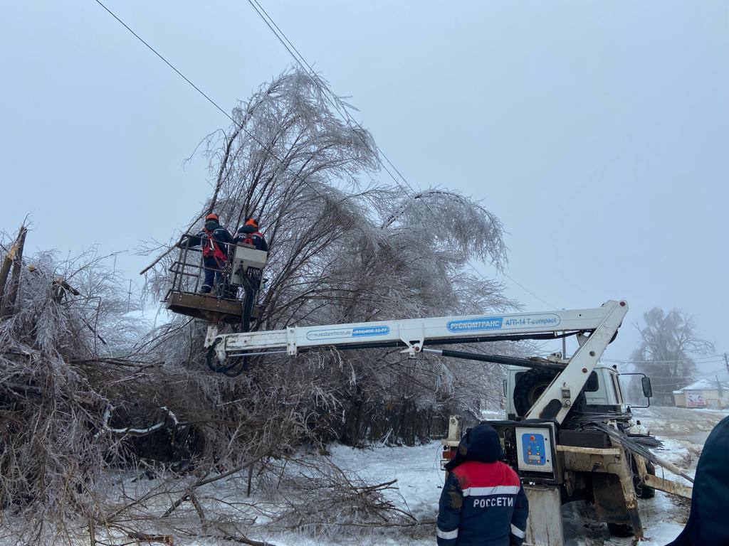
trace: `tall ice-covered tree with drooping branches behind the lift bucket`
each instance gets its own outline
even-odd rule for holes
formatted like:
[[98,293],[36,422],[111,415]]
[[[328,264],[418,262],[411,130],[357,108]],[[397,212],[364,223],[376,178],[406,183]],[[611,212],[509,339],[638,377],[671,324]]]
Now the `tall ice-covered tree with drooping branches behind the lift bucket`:
[[[378,180],[372,135],[331,103],[308,74],[286,71],[206,140],[211,197],[188,229],[211,210],[233,230],[247,215],[259,218],[270,256],[254,328],[513,308],[498,282],[472,268],[506,263],[499,219],[457,191]],[[163,291],[165,282],[160,267],[151,285]],[[200,365],[199,343],[184,347],[187,362]],[[270,388],[295,383],[331,395],[335,406],[318,408],[312,396],[307,411],[321,430],[357,441],[414,440],[427,428],[415,421],[435,409],[498,397],[500,373],[435,357],[408,361],[396,350],[267,357],[248,375]]]

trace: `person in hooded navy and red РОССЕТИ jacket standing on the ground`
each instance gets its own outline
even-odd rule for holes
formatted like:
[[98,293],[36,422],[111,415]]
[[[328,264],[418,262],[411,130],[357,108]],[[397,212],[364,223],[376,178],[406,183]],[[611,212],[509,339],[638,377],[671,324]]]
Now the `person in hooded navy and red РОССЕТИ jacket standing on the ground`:
[[437,519],[438,546],[521,546],[529,503],[507,464],[494,427],[478,424],[445,465]]

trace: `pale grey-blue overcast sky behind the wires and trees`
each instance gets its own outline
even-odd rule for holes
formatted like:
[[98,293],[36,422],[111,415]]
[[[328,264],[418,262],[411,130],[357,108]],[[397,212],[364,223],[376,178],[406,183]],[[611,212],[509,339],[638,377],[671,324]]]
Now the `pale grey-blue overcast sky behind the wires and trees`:
[[[621,359],[676,306],[729,350],[729,2],[261,1],[413,186],[502,219],[526,309],[627,299]],[[225,110],[292,63],[243,0],[106,5]],[[0,228],[112,252],[198,210],[227,119],[95,1],[4,3],[0,51]]]

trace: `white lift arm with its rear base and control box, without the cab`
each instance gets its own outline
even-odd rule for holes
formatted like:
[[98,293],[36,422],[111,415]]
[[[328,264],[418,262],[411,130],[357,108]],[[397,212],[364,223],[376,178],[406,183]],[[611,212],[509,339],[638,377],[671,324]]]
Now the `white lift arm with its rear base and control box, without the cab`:
[[[616,433],[605,435],[598,446],[580,440],[580,430],[569,430],[569,443],[560,441],[561,430],[566,430],[569,424],[568,415],[584,400],[580,393],[604,350],[615,339],[627,312],[625,301],[607,301],[593,309],[382,320],[247,333],[219,334],[217,326],[211,325],[205,346],[208,358],[219,364],[260,355],[294,357],[303,352],[332,348],[402,347],[402,352],[410,357],[433,354],[555,371],[555,379],[523,419],[490,423],[499,431],[507,462],[527,486],[535,516],[530,517],[525,544],[561,546],[564,541],[561,529],[564,499],[593,499],[601,507],[602,521],[625,526],[638,538],[643,536],[636,483],[644,483],[649,478],[641,457],[621,443],[620,438],[626,438],[625,443],[628,443],[627,435],[620,436],[617,425],[612,423]],[[579,345],[569,359],[485,355],[447,347],[567,336],[575,336]],[[594,430],[585,431],[585,438],[594,439],[595,435]],[[580,441],[575,442],[574,438]],[[537,451],[542,454],[539,459],[532,456],[532,452]],[[638,464],[636,459],[641,459]],[[671,484],[661,486],[655,481],[652,486],[664,490],[672,487]],[[690,496],[690,488],[687,489],[684,496]]]

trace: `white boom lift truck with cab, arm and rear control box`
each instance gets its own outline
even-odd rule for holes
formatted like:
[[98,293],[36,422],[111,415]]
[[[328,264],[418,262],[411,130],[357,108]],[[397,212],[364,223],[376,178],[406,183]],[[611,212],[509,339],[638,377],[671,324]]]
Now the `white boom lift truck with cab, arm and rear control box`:
[[[652,454],[655,443],[634,422],[625,405],[615,368],[599,359],[617,336],[628,312],[625,301],[593,309],[537,313],[428,317],[369,323],[290,327],[276,331],[219,333],[208,326],[205,346],[212,369],[252,356],[291,357],[322,349],[402,347],[409,357],[440,355],[507,365],[504,420],[488,421],[499,432],[504,460],[518,473],[529,497],[525,544],[562,546],[561,507],[577,500],[593,503],[598,521],[613,534],[644,536],[638,499],[655,489],[690,498],[691,488],[655,476],[660,464],[691,478]],[[569,358],[518,358],[466,352],[454,344],[560,339],[574,336],[578,348]],[[642,374],[641,374],[642,375]],[[644,395],[652,395],[642,378]],[[458,446],[461,427],[451,417],[443,440],[445,459]],[[693,480],[692,480],[693,481]]]

